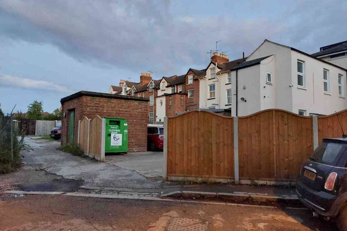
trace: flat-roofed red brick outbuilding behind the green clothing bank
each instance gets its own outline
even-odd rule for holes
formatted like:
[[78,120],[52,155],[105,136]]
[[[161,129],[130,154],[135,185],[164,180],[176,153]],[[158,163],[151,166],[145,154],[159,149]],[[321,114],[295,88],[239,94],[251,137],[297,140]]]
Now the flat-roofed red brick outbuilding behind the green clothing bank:
[[[95,115],[102,117],[125,118],[128,123],[128,152],[147,150],[147,107],[148,99],[100,92],[79,91],[60,100],[63,111],[62,139],[77,142],[78,121],[83,116],[91,119]],[[71,118],[69,119],[69,116]],[[74,115],[74,119],[72,119]],[[73,121],[74,126],[69,122]]]

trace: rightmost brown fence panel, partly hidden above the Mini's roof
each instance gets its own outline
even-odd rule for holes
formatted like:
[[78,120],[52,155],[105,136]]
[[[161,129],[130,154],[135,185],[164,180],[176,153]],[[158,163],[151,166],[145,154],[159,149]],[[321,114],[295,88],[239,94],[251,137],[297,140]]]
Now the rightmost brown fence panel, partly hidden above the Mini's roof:
[[[340,120],[340,123],[339,123]],[[318,141],[323,138],[341,138],[342,128],[347,133],[347,109],[327,116],[318,116]]]

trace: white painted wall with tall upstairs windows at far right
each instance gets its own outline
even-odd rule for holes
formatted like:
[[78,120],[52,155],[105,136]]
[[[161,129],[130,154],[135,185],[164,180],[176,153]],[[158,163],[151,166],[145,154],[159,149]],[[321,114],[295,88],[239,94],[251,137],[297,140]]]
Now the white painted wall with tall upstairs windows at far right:
[[[342,74],[342,86],[346,96],[346,71],[332,65],[323,63],[296,51],[291,51],[292,82],[293,82],[293,112],[299,109],[306,110],[307,114],[330,115],[335,111],[347,108],[345,98],[338,94],[338,74]],[[305,61],[306,89],[297,86],[297,60]],[[329,70],[330,94],[324,94],[323,69]]]

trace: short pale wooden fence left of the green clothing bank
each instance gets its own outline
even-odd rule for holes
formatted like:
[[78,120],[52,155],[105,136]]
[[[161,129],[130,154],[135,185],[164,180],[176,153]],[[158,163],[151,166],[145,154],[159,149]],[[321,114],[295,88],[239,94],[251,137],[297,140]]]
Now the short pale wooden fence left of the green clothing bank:
[[78,121],[78,144],[86,156],[105,160],[105,119],[95,115]]

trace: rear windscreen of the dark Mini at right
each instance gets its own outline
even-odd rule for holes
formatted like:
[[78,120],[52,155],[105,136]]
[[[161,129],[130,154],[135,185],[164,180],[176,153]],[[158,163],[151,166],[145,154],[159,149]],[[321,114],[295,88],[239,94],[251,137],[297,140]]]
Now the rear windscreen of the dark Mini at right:
[[324,165],[336,166],[341,154],[345,151],[347,144],[322,143],[314,151],[310,160]]

